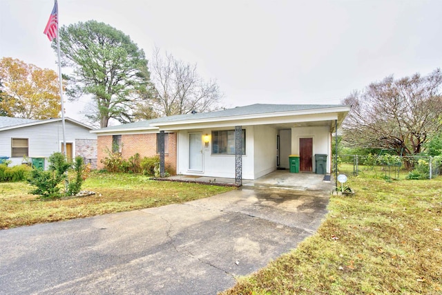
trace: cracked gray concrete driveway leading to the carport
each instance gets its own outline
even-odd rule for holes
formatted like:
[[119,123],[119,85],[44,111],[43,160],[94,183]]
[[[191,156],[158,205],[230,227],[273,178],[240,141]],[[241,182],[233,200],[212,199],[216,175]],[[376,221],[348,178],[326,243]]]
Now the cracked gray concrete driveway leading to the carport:
[[0,231],[0,294],[216,294],[316,231],[328,193],[211,198]]

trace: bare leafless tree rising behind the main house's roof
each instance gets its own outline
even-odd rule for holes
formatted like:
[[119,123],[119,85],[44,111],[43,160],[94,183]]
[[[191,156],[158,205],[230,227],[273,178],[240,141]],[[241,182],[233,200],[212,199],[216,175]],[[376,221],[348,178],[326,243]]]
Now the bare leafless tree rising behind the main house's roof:
[[222,93],[215,81],[205,82],[196,70],[196,64],[186,64],[166,53],[160,55],[160,49],[153,50],[151,99],[139,106],[137,117],[180,115],[191,111],[214,111]]

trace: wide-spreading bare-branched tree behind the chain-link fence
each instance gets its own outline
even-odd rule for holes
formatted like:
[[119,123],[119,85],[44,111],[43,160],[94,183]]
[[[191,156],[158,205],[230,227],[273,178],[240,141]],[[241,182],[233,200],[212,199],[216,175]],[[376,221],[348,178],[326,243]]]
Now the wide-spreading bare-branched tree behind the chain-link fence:
[[442,130],[442,73],[386,77],[344,99],[352,110],[343,124],[347,146],[390,149],[398,155],[421,153],[430,137]]

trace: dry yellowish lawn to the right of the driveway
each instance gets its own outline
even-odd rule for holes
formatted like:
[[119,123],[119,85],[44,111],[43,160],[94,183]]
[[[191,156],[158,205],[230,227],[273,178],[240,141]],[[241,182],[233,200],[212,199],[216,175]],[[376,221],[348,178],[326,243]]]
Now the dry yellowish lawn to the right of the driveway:
[[442,177],[350,177],[317,234],[223,294],[442,294]]

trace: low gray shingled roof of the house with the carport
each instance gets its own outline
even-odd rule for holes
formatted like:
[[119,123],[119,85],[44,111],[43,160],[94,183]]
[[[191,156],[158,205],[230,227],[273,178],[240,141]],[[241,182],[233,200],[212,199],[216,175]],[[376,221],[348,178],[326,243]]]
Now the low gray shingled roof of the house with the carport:
[[231,120],[248,120],[268,117],[280,117],[283,115],[311,115],[318,113],[349,111],[349,106],[342,104],[252,104],[238,106],[222,111],[209,113],[189,113],[185,115],[173,115],[160,117],[153,120],[133,122],[118,126],[109,126],[96,129],[92,133],[113,133],[115,131],[155,131],[160,126],[196,124],[201,122],[222,122]]

